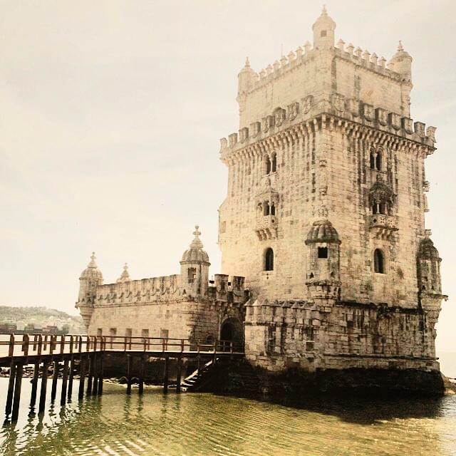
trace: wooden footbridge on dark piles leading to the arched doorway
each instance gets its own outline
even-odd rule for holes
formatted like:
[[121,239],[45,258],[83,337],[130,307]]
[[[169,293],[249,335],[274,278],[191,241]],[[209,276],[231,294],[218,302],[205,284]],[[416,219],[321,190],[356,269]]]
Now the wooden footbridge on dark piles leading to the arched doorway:
[[[197,361],[197,373],[201,361],[209,358],[214,362],[217,358],[233,358],[244,356],[242,346],[236,346],[232,341],[215,341],[201,343],[177,338],[131,337],[131,336],[53,336],[45,334],[24,334],[16,338],[11,334],[9,341],[0,341],[0,367],[9,367],[8,394],[6,396],[6,420],[16,421],[19,416],[21,398],[21,381],[24,366],[33,365],[31,379],[30,408],[36,405],[38,377],[41,372],[41,388],[39,395],[38,413],[43,413],[46,405],[46,390],[48,369],[53,363],[51,401],[56,399],[57,379],[61,363],[62,388],[61,405],[71,400],[73,378],[76,364],[79,366],[78,398],[86,395],[103,393],[103,361],[106,353],[123,354],[127,358],[127,394],[131,393],[133,357],[140,360],[140,375],[138,392],[144,390],[144,373],[147,358],[162,358],[165,361],[163,373],[163,390],[169,386],[169,361],[177,360],[176,391],[181,390],[182,359],[193,358]],[[195,374],[192,374],[195,375]],[[87,378],[87,385],[85,386]]]

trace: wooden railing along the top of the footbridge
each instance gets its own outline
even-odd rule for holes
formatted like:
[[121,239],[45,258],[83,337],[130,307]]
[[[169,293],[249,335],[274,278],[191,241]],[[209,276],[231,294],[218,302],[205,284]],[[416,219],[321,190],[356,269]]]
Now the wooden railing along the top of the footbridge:
[[[20,349],[18,349],[20,347]],[[0,341],[0,358],[44,356],[101,351],[153,353],[242,353],[244,347],[232,341],[214,341],[160,337],[85,336],[80,334],[24,334],[21,339],[11,334]]]

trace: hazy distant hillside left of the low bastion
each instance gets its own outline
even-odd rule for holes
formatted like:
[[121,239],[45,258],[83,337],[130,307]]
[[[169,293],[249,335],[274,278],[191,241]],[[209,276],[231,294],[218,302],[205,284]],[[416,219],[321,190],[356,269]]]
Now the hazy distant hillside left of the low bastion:
[[35,328],[56,326],[71,332],[85,332],[81,316],[69,315],[66,312],[46,307],[13,307],[0,306],[0,323],[16,324],[18,329],[33,325]]

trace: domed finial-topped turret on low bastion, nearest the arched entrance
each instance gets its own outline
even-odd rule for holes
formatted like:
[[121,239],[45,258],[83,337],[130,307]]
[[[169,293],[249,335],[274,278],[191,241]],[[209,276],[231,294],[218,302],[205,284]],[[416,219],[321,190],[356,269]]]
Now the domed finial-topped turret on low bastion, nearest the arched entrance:
[[184,252],[180,261],[182,289],[190,296],[205,295],[209,284],[209,255],[202,249],[198,225],[195,226],[193,234],[195,238],[190,249]]

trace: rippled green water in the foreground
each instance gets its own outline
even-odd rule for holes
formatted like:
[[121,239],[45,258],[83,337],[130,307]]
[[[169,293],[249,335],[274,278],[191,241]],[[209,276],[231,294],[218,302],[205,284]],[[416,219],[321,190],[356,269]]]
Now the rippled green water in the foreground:
[[[7,381],[0,378],[2,413]],[[19,421],[0,431],[1,455],[456,455],[456,396],[298,409],[157,388],[128,396],[113,384],[79,402],[77,391],[76,382],[71,403],[28,417],[24,378]]]

